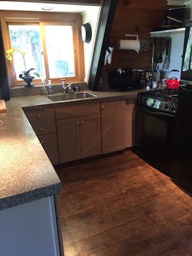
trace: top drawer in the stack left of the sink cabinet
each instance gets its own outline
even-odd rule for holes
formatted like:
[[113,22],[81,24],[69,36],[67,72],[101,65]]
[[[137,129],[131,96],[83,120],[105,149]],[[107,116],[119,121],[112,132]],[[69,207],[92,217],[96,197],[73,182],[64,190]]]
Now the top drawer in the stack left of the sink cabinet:
[[55,120],[54,109],[42,109],[38,111],[25,111],[25,114],[30,123],[39,123]]

